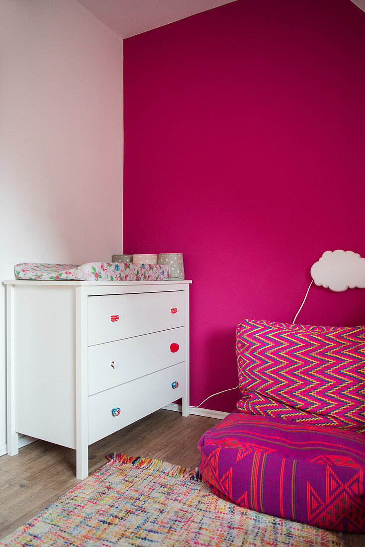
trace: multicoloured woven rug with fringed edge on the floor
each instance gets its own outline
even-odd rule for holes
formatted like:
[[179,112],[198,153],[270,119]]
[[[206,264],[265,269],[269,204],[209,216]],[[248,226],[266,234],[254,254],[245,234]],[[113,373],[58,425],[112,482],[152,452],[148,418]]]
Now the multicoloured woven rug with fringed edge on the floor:
[[344,547],[341,533],[255,513],[212,494],[193,469],[112,456],[0,545]]

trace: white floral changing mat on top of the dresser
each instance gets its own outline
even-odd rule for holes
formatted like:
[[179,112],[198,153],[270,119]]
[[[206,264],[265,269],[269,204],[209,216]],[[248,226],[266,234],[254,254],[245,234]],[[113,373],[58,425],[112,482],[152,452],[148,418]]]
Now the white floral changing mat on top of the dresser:
[[39,264],[22,262],[14,266],[15,277],[32,281],[165,281],[170,266],[124,262]]

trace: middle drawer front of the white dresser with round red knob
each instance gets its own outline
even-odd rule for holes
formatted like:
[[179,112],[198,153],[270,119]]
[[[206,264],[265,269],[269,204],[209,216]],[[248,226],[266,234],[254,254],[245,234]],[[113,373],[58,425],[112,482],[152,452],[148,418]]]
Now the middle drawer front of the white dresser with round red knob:
[[88,353],[93,395],[186,360],[186,328],[90,346]]

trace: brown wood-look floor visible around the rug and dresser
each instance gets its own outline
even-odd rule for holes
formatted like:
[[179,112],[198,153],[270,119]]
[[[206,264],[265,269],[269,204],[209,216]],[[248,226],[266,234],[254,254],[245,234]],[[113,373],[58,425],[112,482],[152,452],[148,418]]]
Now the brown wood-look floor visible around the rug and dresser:
[[[148,456],[182,467],[199,464],[200,436],[219,420],[159,410],[89,447],[89,472],[106,463],[108,452]],[[0,458],[0,538],[37,515],[75,486],[74,450],[36,441],[17,456]],[[348,547],[365,547],[365,534],[345,534]],[[223,546],[222,546],[223,547]]]

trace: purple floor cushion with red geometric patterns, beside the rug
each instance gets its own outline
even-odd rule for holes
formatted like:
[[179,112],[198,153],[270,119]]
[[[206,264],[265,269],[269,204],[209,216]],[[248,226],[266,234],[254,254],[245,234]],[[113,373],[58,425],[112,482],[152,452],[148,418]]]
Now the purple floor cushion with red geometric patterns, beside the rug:
[[365,532],[365,434],[232,412],[202,435],[219,497],[297,522]]

